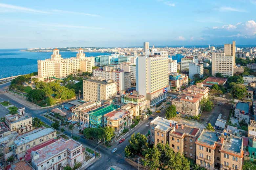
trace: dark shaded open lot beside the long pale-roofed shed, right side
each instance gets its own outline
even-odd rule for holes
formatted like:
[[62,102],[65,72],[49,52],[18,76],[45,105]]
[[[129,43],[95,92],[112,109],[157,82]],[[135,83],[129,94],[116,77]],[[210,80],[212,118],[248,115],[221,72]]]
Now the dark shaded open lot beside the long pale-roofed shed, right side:
[[208,123],[211,123],[212,126],[214,126],[220,113],[222,113],[222,118],[227,120],[230,109],[231,109],[231,104],[220,103],[220,105],[216,105],[215,103],[214,109],[211,112],[203,112],[201,114],[200,120],[205,125],[207,125]]

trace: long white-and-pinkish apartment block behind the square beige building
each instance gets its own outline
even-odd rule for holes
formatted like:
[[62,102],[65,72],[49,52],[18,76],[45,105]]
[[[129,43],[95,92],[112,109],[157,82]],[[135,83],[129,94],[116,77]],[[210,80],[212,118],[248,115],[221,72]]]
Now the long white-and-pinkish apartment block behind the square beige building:
[[129,72],[123,70],[114,69],[113,67],[103,67],[103,69],[93,70],[93,75],[117,82],[118,94],[121,90],[131,87],[131,75]]

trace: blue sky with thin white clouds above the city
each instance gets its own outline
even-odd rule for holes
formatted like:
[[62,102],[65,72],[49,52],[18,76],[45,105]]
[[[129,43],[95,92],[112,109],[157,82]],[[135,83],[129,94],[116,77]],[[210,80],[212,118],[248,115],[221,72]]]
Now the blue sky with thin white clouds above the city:
[[256,0],[0,0],[0,48],[256,44]]

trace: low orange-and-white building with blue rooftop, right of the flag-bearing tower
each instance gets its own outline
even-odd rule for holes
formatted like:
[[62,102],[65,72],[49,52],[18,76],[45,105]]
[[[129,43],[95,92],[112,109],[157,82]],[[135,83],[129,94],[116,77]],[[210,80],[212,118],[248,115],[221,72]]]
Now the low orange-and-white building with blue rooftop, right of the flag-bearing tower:
[[188,85],[188,76],[187,74],[171,73],[169,75],[169,85],[171,90],[179,91],[181,86],[186,87]]

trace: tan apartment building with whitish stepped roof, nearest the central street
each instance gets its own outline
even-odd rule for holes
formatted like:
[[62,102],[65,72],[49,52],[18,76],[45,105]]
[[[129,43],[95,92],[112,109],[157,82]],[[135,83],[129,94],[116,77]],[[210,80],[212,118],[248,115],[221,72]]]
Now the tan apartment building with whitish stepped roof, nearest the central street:
[[177,124],[174,120],[168,120],[157,116],[149,123],[150,126],[150,142],[157,145],[157,143],[169,143],[169,132]]

